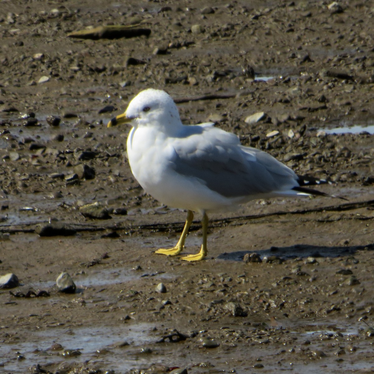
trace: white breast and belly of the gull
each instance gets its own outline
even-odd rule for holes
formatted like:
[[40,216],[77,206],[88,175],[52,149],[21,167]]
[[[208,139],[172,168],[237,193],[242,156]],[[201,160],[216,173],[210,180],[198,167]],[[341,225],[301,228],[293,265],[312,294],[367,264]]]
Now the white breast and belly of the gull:
[[[153,134],[152,134],[153,133]],[[199,181],[174,171],[172,138],[150,128],[132,128],[127,153],[132,174],[144,190],[160,202],[192,211],[218,211],[229,208],[229,199],[209,190]]]

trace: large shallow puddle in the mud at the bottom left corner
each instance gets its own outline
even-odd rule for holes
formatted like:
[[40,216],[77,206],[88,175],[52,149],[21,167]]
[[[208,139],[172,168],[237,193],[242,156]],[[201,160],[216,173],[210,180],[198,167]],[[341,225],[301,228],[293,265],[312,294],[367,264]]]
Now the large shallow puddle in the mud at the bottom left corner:
[[[157,340],[157,337],[150,335],[151,327],[150,324],[141,323],[119,325],[116,329],[104,326],[74,329],[56,327],[33,331],[28,335],[28,341],[1,344],[0,364],[6,372],[26,373],[29,367],[37,363],[42,367],[61,361],[83,364],[100,358],[99,361],[108,368],[128,370],[134,367],[135,362],[147,363],[146,358],[139,359],[136,353],[141,352],[142,344]],[[119,347],[121,343],[123,347]],[[61,344],[62,349],[51,349],[53,344]]]

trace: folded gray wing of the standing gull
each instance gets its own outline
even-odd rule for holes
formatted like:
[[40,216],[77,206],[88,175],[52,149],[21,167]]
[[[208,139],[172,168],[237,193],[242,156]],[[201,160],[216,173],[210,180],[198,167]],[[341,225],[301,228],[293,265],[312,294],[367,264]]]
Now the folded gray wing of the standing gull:
[[[234,134],[188,127],[188,134],[173,144],[172,164],[177,173],[196,178],[225,197],[288,191],[298,186],[291,169],[266,152],[240,145]],[[195,127],[199,130],[194,133]]]

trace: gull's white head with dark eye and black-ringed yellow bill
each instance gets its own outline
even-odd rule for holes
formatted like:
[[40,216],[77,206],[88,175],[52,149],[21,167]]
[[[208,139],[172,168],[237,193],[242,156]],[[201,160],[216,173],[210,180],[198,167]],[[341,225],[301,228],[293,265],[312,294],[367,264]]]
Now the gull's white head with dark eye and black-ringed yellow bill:
[[125,113],[113,118],[108,127],[130,123],[134,127],[157,126],[165,132],[174,132],[182,126],[177,105],[161,90],[152,88],[138,93],[130,101]]

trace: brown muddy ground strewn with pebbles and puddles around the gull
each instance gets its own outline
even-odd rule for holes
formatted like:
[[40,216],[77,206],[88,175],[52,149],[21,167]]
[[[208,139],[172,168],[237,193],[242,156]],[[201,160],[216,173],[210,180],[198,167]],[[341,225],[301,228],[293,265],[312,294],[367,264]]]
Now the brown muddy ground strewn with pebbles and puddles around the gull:
[[[373,371],[374,7],[328,5],[1,3],[0,275],[49,294],[0,290],[2,373]],[[67,37],[104,24],[151,34]],[[152,254],[185,212],[144,193],[128,129],[106,128],[149,87],[349,201],[254,201],[211,217],[206,260]],[[185,100],[207,94],[229,98]],[[196,221],[185,252],[200,240]],[[75,294],[57,291],[62,271]]]

